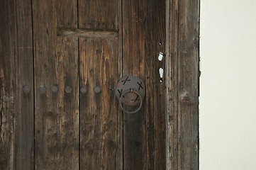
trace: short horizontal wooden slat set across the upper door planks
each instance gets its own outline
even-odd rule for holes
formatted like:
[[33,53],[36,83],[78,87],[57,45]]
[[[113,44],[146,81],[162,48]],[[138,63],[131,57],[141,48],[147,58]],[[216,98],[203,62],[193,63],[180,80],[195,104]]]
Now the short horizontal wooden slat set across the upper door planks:
[[118,30],[92,30],[87,28],[57,28],[57,36],[84,38],[118,38]]

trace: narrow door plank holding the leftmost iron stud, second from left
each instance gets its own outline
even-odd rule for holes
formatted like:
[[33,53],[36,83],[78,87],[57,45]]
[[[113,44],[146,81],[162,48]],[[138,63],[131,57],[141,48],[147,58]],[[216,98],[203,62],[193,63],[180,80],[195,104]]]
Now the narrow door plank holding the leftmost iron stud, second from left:
[[[16,0],[17,14],[17,169],[34,169],[33,34],[30,0]],[[23,86],[30,86],[28,94]]]

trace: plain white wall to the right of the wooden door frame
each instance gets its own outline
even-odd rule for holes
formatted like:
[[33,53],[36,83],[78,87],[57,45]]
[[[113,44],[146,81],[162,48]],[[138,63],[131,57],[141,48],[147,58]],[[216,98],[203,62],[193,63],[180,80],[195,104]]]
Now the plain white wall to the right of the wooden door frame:
[[200,170],[256,169],[256,0],[201,0]]

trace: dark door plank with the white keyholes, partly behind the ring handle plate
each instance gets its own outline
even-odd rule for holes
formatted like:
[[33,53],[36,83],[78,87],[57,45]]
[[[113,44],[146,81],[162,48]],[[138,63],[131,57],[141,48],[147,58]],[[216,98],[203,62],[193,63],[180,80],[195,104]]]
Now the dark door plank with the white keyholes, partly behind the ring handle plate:
[[[165,1],[123,1],[123,75],[146,86],[143,108],[124,113],[123,168],[165,169],[165,84],[157,57],[165,52]],[[163,79],[163,81],[165,81]]]

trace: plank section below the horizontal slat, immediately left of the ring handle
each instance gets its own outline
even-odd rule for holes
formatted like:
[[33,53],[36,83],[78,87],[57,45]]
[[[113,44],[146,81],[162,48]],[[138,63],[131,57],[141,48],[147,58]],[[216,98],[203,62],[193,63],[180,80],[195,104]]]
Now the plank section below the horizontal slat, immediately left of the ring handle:
[[[120,169],[121,111],[114,93],[120,77],[118,39],[80,38],[81,169]],[[96,94],[94,88],[101,87]]]

